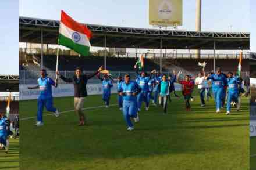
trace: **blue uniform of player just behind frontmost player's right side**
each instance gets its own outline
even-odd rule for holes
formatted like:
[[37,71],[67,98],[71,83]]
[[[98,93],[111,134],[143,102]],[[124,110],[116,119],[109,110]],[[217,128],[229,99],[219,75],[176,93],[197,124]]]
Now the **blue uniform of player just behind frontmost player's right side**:
[[150,104],[150,97],[148,82],[150,81],[150,77],[142,77],[141,75],[137,74],[136,82],[141,88],[141,92],[137,96],[137,104],[138,104],[138,111],[141,110],[142,102],[146,104],[146,110],[148,110]]

